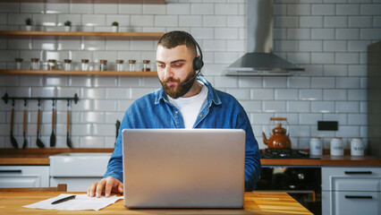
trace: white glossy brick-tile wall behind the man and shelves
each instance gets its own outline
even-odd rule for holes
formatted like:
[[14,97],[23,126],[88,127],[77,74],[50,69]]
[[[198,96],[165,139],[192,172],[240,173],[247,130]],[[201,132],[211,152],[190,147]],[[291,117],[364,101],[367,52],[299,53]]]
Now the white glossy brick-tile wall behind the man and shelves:
[[[233,94],[246,109],[257,137],[269,118],[284,116],[290,123],[292,148],[308,149],[310,136],[333,136],[367,141],[367,46],[381,39],[380,0],[275,0],[275,53],[306,68],[289,77],[224,76],[224,67],[245,53],[245,1],[167,0],[166,4],[41,4],[0,3],[0,30],[24,30],[32,17],[35,30],[166,32],[187,30],[204,54],[202,72],[219,90]],[[80,62],[107,59],[155,61],[157,41],[80,39],[0,39],[0,68],[14,58],[44,61],[72,58]],[[112,148],[115,122],[144,94],[156,90],[156,77],[0,75],[0,96],[72,97],[72,142],[75,148]],[[11,148],[11,109],[0,102],[0,148]],[[21,145],[23,101],[15,102],[13,134]],[[52,101],[43,102],[42,142],[51,133]],[[27,138],[36,146],[37,101],[30,101]],[[66,147],[66,101],[57,102],[56,147]],[[337,132],[318,132],[318,121],[338,121]]]

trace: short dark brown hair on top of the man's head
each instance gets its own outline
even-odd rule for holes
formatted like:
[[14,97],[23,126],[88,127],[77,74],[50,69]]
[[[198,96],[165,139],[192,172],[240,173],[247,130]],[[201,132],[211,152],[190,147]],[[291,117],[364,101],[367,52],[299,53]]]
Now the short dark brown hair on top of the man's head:
[[157,46],[162,46],[171,49],[173,47],[185,45],[188,49],[190,49],[192,53],[194,53],[194,56],[196,56],[196,43],[190,37],[190,34],[184,31],[170,31],[165,33],[163,37],[159,39]]

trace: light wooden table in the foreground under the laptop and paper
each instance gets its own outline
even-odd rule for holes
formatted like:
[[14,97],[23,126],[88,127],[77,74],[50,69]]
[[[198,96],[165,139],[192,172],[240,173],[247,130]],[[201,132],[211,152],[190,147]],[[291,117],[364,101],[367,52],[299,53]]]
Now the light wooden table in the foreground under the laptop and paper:
[[123,200],[100,211],[55,211],[22,208],[59,195],[58,192],[1,192],[0,214],[312,214],[287,193],[245,193],[244,209],[128,210]]

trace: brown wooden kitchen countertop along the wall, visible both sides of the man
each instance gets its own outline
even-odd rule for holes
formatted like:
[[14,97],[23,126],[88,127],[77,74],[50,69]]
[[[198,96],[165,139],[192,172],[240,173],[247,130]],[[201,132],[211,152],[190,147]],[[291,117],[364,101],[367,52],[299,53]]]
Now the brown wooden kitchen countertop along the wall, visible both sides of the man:
[[[69,152],[113,152],[114,149],[27,149],[0,151],[0,165],[49,165],[49,156]],[[262,166],[381,167],[381,159],[365,156],[319,156],[319,159],[261,159]]]

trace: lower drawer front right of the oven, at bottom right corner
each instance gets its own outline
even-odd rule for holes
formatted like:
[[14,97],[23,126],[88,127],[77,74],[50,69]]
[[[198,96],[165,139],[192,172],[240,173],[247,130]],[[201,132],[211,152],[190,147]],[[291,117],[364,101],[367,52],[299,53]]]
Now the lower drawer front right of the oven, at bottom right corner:
[[380,192],[322,192],[323,214],[380,214]]

